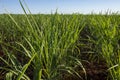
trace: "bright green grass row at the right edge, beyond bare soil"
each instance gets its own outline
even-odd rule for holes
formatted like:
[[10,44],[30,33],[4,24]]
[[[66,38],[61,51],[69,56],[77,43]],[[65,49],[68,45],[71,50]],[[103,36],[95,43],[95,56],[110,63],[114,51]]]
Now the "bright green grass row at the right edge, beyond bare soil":
[[105,59],[108,72],[111,76],[109,79],[120,79],[120,26],[117,14],[92,16],[90,18],[90,30],[93,40],[96,42],[96,52],[101,54]]

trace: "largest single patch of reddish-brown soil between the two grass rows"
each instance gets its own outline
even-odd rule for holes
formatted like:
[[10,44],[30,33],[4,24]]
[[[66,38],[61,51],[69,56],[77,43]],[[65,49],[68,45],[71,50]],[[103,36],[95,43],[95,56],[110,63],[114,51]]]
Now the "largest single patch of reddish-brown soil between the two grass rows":
[[83,63],[88,80],[107,80],[107,66],[104,62]]

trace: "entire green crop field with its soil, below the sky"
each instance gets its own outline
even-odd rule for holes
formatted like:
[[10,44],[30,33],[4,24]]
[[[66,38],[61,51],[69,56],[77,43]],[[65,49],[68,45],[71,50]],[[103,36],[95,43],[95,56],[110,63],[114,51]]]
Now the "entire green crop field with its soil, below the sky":
[[120,80],[120,16],[1,14],[0,79]]

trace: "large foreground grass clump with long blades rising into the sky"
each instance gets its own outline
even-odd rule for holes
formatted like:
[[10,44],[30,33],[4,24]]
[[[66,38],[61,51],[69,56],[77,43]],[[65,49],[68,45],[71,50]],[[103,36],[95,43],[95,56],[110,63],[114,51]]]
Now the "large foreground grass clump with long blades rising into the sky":
[[[20,0],[19,2],[25,13],[24,17],[27,22],[25,22],[25,26],[22,26],[24,24],[19,25],[12,15],[8,14],[16,25],[13,27],[14,30],[18,32],[13,34],[13,43],[6,44],[3,42],[3,45],[8,47],[6,49],[2,46],[8,59],[1,57],[1,60],[7,65],[7,67],[1,67],[8,71],[6,79],[30,80],[31,76],[28,76],[26,73],[30,69],[33,70],[31,71],[33,80],[58,80],[61,79],[61,73],[64,71],[82,79],[70,66],[70,61],[66,59],[73,60],[73,58],[70,58],[72,54],[68,54],[68,50],[74,48],[74,43],[77,41],[80,31],[84,27],[82,16],[77,18],[77,15],[72,15],[67,18],[63,17],[64,15],[60,16],[56,12],[55,14],[51,14],[49,18],[41,18],[42,22],[40,21],[41,24],[38,25],[37,22],[39,21],[35,20],[26,4],[25,6],[30,13],[29,15],[22,2]],[[79,19],[81,22],[79,22]],[[18,37],[18,41],[14,41],[15,37]],[[77,60],[76,65],[81,65],[79,60]]]

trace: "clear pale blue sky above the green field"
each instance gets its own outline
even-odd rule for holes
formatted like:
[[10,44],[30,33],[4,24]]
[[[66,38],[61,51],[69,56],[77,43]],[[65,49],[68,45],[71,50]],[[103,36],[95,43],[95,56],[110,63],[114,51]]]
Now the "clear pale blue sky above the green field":
[[[21,0],[22,1],[22,0]],[[33,14],[120,11],[120,0],[24,0]],[[23,14],[19,0],[0,0],[0,14]]]

